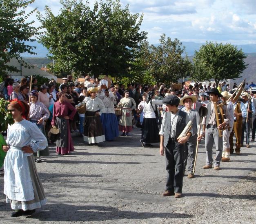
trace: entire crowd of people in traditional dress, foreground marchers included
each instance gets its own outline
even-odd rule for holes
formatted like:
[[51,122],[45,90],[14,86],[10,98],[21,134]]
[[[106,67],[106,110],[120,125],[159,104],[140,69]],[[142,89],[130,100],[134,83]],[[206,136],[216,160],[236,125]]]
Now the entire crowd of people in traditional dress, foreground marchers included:
[[[203,168],[216,171],[220,170],[221,161],[230,160],[230,154],[240,155],[244,133],[246,147],[250,147],[250,128],[251,141],[255,139],[256,93],[249,96],[248,84],[241,96],[236,96],[225,82],[217,88],[215,83],[208,86],[183,83],[180,89],[174,89],[164,84],[129,84],[125,88],[112,83],[107,76],[94,81],[85,76],[84,83],[73,81],[71,75],[62,80],[59,88],[54,80],[38,88],[33,78],[31,90],[26,78],[20,82],[5,80],[2,96],[10,100],[8,109],[15,120],[7,131],[7,146],[3,146],[7,152],[4,194],[16,210],[11,214],[13,217],[31,214],[46,203],[34,161],[41,162],[42,156],[49,155],[48,145],[55,141],[56,153],[71,153],[74,150],[71,133],[80,133],[89,146],[99,146],[104,141],[114,141],[118,135],[127,137],[133,128],[140,128],[141,146],[153,147],[152,144],[159,143],[160,155],[166,157],[167,182],[162,195],[176,198],[182,194],[186,167],[187,178],[194,178],[196,145],[203,138],[206,151]],[[220,110],[223,120],[219,122],[216,112]],[[11,163],[12,159],[25,164],[24,167],[14,167],[18,164]],[[26,190],[16,191],[24,186]]]

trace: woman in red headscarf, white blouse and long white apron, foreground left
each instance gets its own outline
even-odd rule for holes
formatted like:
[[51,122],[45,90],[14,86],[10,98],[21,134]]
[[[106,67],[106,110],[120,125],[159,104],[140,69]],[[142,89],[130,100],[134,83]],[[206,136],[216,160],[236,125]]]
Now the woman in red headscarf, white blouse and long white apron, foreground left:
[[31,215],[46,204],[45,192],[36,170],[33,152],[43,150],[47,139],[40,129],[26,120],[29,106],[20,100],[8,105],[14,124],[8,126],[4,160],[4,194],[15,211],[11,217]]

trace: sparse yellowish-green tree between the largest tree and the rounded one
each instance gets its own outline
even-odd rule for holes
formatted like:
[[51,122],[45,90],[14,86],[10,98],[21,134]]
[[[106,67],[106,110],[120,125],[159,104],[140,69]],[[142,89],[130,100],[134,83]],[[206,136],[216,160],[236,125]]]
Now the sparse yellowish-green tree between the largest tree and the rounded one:
[[185,47],[178,39],[171,40],[170,37],[161,35],[160,45],[150,45],[143,41],[140,46],[139,57],[148,70],[158,82],[177,82],[178,79],[190,74],[191,62],[182,54]]

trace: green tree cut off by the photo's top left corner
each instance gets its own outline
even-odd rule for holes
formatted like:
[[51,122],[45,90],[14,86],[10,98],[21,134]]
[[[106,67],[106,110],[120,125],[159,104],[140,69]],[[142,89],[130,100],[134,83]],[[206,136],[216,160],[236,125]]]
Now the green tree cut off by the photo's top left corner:
[[[12,59],[16,58],[20,62],[20,54],[33,52],[33,46],[25,41],[36,41],[35,36],[39,35],[38,28],[33,26],[34,21],[26,22],[29,16],[36,9],[27,13],[27,7],[34,0],[0,0],[0,73],[18,72],[19,70],[7,65]],[[29,65],[22,60],[25,67]]]

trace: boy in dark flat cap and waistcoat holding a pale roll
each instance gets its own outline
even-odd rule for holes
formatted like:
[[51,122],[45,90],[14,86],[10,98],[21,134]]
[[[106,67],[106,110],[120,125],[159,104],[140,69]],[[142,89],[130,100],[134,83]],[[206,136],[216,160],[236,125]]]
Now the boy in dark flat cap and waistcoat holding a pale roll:
[[184,147],[185,142],[192,135],[193,129],[185,137],[181,137],[177,141],[177,138],[189,122],[189,116],[186,112],[178,109],[180,99],[177,96],[165,97],[163,104],[166,104],[168,112],[163,117],[159,132],[160,155],[164,155],[165,149],[167,170],[166,191],[162,196],[174,195],[175,198],[180,198],[183,186]]

